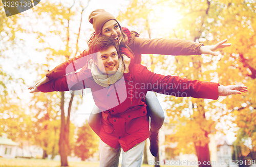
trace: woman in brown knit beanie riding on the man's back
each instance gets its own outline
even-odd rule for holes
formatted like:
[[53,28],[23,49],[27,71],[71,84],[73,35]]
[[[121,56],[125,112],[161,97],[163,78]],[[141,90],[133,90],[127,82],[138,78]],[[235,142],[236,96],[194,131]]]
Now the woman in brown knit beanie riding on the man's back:
[[[92,34],[90,42],[92,39],[98,36],[108,36],[118,43],[118,49],[127,49],[134,56],[134,63],[141,63],[141,54],[162,54],[162,55],[201,55],[201,54],[212,54],[217,56],[217,53],[213,52],[219,48],[229,46],[230,44],[225,44],[227,40],[223,40],[216,45],[203,46],[201,43],[196,43],[188,40],[180,39],[146,39],[139,38],[139,34],[135,31],[130,32],[127,28],[122,28],[116,18],[104,11],[103,9],[97,9],[93,11],[89,16],[89,21],[92,23],[95,32]],[[53,70],[51,70],[45,78],[39,80],[35,86],[40,86],[52,79],[62,77],[72,71],[66,71],[66,67],[73,63],[76,69],[81,68],[76,64],[76,60],[89,55],[89,50],[83,51],[79,56],[67,60],[66,62],[58,65]],[[74,69],[73,69],[74,70]],[[149,98],[147,98],[149,97]],[[146,104],[148,109],[148,114],[151,117],[151,130],[150,130],[150,151],[153,156],[158,154],[158,131],[163,125],[164,113],[163,110],[154,94],[154,92],[148,92],[146,96]],[[95,107],[94,107],[95,108]],[[92,113],[99,113],[100,111],[94,110]],[[91,128],[99,134],[100,125],[97,124],[97,120],[100,119],[100,114],[91,114],[89,118],[89,125]]]

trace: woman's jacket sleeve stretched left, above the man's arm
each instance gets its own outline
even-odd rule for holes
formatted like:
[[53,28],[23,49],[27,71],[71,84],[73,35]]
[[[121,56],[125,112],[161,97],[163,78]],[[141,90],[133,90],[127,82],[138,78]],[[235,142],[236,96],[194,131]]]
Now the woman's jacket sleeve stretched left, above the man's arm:
[[[52,79],[55,79],[55,78],[59,78],[59,77],[65,76],[66,74],[71,73],[74,70],[77,70],[77,69],[81,68],[84,65],[84,63],[83,64],[79,64],[79,63],[77,63],[76,60],[78,60],[78,59],[80,59],[80,58],[82,58],[84,56],[87,56],[89,54],[90,54],[89,50],[84,50],[79,56],[70,58],[69,60],[59,64],[58,66],[56,66],[54,69],[52,69],[51,71],[49,71],[46,74],[46,77],[49,80],[52,80]],[[71,70],[67,73],[66,68],[71,63],[73,63],[73,66],[75,67],[75,69],[74,68],[70,68]]]

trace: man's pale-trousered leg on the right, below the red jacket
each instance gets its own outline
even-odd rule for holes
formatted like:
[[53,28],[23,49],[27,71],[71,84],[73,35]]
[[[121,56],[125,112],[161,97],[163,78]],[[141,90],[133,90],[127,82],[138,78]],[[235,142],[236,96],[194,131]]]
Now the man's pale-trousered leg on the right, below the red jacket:
[[141,166],[145,141],[146,140],[140,142],[139,144],[135,145],[132,149],[130,149],[126,152],[122,151],[122,167],[127,167],[127,166],[138,167],[138,166]]

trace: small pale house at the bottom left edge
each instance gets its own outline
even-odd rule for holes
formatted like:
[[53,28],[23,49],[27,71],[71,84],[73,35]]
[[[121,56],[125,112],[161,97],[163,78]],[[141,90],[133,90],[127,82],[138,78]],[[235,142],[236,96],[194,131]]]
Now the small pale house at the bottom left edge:
[[15,158],[18,144],[7,138],[7,134],[2,133],[0,137],[0,156],[3,158]]

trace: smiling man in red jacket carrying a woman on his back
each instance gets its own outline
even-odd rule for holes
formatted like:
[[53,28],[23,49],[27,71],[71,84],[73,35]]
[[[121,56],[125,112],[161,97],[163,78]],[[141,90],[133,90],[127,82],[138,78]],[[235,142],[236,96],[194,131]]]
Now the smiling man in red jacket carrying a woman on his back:
[[247,87],[241,85],[219,86],[213,82],[152,73],[145,66],[132,63],[134,55],[131,52],[121,50],[120,57],[116,43],[110,37],[95,38],[90,45],[91,52],[98,54],[88,56],[90,63],[78,73],[53,79],[38,88],[31,88],[31,92],[92,89],[95,104],[103,111],[99,134],[100,166],[118,166],[121,148],[123,167],[141,165],[145,139],[149,136],[144,99],[147,91],[213,100],[221,95],[247,91]]

